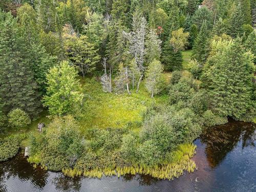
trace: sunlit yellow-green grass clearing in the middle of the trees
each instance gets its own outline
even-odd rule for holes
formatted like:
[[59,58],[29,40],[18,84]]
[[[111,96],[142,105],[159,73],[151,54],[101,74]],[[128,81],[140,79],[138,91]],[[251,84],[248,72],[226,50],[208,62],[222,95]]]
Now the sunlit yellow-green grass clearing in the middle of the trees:
[[131,90],[131,94],[104,93],[100,81],[96,77],[81,78],[86,101],[81,113],[81,130],[87,127],[123,127],[127,123],[139,125],[142,113],[152,103],[164,102],[166,96],[151,98],[141,82],[139,92]]

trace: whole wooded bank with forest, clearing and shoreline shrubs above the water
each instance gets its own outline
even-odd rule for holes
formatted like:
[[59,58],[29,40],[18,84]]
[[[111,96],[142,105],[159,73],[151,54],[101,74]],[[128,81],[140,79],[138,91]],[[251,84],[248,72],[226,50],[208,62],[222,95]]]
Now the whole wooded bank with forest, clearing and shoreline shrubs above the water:
[[193,172],[204,129],[256,122],[255,23],[255,0],[1,1],[0,161]]

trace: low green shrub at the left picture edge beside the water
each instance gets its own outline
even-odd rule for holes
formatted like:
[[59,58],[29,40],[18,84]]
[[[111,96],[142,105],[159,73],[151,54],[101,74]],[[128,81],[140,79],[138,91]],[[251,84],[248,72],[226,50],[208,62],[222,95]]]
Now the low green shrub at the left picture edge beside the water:
[[6,161],[15,156],[19,150],[19,139],[9,136],[0,140],[0,161]]

